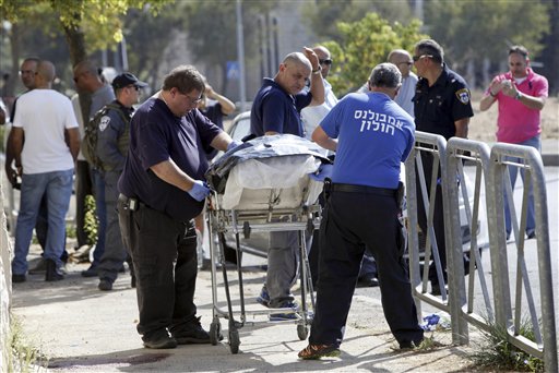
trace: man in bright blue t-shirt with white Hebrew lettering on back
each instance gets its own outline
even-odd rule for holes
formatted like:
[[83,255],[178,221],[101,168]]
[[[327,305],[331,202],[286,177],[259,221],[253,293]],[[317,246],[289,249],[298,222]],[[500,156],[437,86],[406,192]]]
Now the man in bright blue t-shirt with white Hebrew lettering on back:
[[317,309],[301,359],[340,354],[365,246],[377,260],[382,306],[400,347],[424,338],[399,220],[400,163],[415,139],[413,118],[393,100],[401,82],[394,64],[377,65],[371,92],[344,97],[312,133],[320,146],[336,152],[336,160],[324,185]]

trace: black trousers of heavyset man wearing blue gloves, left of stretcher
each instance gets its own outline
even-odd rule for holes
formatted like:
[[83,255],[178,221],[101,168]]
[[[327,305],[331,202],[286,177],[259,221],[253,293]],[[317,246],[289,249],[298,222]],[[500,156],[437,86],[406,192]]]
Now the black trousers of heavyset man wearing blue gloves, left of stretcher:
[[136,276],[138,333],[148,339],[163,329],[180,330],[197,313],[194,221],[174,220],[144,204],[132,212],[120,197],[118,213]]

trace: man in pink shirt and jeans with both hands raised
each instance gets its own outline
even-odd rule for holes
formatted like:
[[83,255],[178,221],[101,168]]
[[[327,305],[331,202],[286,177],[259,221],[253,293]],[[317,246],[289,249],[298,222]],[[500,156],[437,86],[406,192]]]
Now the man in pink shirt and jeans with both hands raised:
[[[540,112],[546,104],[549,84],[547,79],[536,74],[530,68],[528,50],[523,46],[512,46],[509,49],[509,72],[493,77],[485,92],[479,109],[488,110],[498,103],[497,141],[502,143],[526,145],[542,152],[542,120]],[[521,159],[510,158],[510,161],[521,163]],[[512,189],[516,182],[516,167],[509,167]],[[521,170],[524,180],[524,172]],[[534,212],[534,191],[528,191],[528,210],[526,217],[526,237],[536,237]],[[511,234],[511,213],[509,200],[504,197],[504,227],[507,240]]]

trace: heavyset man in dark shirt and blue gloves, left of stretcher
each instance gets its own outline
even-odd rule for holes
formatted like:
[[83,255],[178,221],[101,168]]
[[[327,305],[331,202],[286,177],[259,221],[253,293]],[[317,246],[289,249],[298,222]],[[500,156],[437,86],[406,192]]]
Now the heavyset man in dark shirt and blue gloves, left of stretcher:
[[210,342],[195,316],[193,219],[210,194],[205,149],[225,152],[237,144],[197,109],[204,87],[194,67],[175,68],[130,122],[117,205],[136,275],[138,333],[146,348]]

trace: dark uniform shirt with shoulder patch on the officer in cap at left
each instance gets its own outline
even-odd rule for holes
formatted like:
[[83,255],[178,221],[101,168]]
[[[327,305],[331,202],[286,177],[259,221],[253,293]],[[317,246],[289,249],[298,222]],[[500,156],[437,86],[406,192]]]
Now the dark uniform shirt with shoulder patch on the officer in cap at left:
[[118,105],[120,109],[108,109],[100,118],[96,152],[104,170],[121,171],[127,159],[130,142],[129,123],[134,109],[127,108],[118,100],[112,104]]

